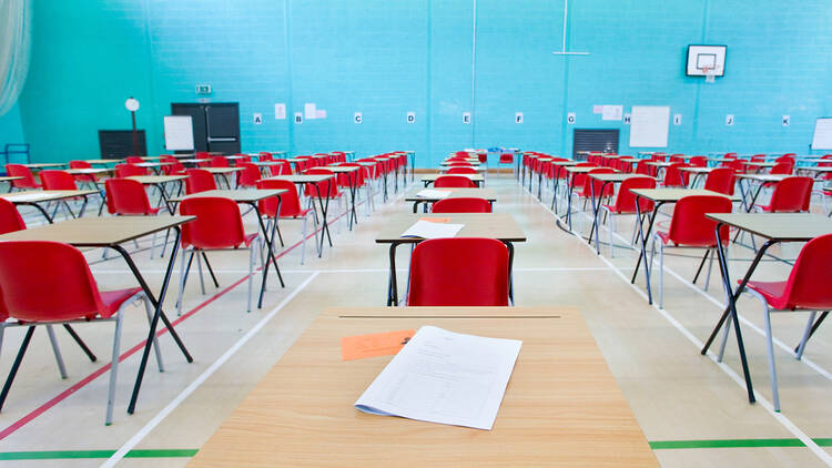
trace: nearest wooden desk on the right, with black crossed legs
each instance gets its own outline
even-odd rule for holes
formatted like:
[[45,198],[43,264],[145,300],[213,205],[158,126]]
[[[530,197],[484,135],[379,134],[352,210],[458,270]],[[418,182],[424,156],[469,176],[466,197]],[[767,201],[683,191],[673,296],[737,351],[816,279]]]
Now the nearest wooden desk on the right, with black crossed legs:
[[[814,237],[832,233],[832,220],[826,216],[811,213],[711,213],[706,214],[709,218],[716,221],[717,230],[717,254],[719,256],[720,272],[722,273],[722,287],[728,296],[728,307],[722,313],[717,326],[711,332],[711,336],[702,347],[702,354],[708,353],[713,339],[717,337],[720,328],[726,322],[726,318],[731,318],[734,326],[734,334],[737,336],[737,346],[740,352],[740,360],[742,363],[742,372],[745,377],[745,388],[748,390],[749,403],[754,403],[754,391],[751,385],[751,374],[749,373],[748,362],[745,359],[745,348],[742,342],[742,333],[740,330],[740,322],[737,316],[737,299],[745,288],[751,275],[757,269],[758,264],[762,260],[765,251],[774,244],[781,242],[809,242]],[[742,278],[737,289],[733,289],[730,272],[728,269],[728,260],[726,256],[724,247],[722,246],[722,240],[720,238],[720,227],[723,225],[735,227],[740,231],[747,231],[754,235],[765,238],[765,243],[757,251],[754,260],[751,262],[745,276]],[[823,313],[820,318],[813,324],[811,333],[818,328],[821,322],[826,318],[828,313]]]

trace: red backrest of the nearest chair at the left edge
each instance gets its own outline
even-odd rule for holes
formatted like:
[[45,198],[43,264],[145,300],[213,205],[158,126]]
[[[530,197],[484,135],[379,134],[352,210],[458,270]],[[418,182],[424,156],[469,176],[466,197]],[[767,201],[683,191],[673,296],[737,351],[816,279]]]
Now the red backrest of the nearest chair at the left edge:
[[58,242],[0,243],[0,319],[65,321],[104,311],[81,251]]

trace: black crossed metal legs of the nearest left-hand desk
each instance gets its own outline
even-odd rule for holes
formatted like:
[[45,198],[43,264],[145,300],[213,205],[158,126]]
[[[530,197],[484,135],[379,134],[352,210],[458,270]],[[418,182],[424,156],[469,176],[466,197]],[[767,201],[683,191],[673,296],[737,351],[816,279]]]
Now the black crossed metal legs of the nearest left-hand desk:
[[135,411],[135,404],[136,404],[136,400],[139,399],[139,390],[142,387],[142,379],[144,378],[144,369],[148,366],[148,358],[150,357],[150,348],[151,346],[153,346],[153,337],[156,334],[156,326],[159,325],[160,318],[164,323],[165,327],[168,327],[168,332],[171,334],[171,337],[176,342],[176,345],[182,350],[182,354],[185,356],[185,359],[189,363],[193,363],[193,357],[191,357],[191,354],[187,353],[187,349],[185,348],[185,345],[182,343],[182,339],[180,339],[179,335],[176,334],[176,330],[173,329],[173,325],[171,325],[164,312],[162,312],[162,304],[164,303],[164,296],[168,294],[168,286],[171,283],[171,273],[173,273],[173,265],[176,260],[176,253],[179,252],[180,237],[182,236],[182,230],[179,226],[175,226],[174,230],[176,230],[176,235],[173,238],[171,258],[168,261],[168,269],[164,273],[164,281],[162,282],[162,289],[159,292],[159,299],[156,299],[153,296],[153,292],[150,291],[150,286],[148,286],[148,284],[144,282],[144,278],[142,277],[141,273],[139,273],[139,268],[136,268],[132,258],[130,258],[130,254],[128,254],[128,252],[124,248],[122,248],[120,245],[114,245],[112,247],[112,248],[115,248],[122,255],[122,257],[124,257],[124,261],[128,263],[128,266],[130,266],[130,269],[133,272],[133,275],[139,281],[139,284],[142,286],[142,289],[144,289],[144,294],[148,295],[148,299],[151,302],[151,304],[155,308],[153,313],[153,319],[151,321],[151,324],[150,324],[148,339],[144,342],[144,352],[142,353],[142,360],[139,364],[139,374],[136,375],[135,384],[133,385],[133,395],[130,397],[130,405],[128,406],[128,413],[131,415]]

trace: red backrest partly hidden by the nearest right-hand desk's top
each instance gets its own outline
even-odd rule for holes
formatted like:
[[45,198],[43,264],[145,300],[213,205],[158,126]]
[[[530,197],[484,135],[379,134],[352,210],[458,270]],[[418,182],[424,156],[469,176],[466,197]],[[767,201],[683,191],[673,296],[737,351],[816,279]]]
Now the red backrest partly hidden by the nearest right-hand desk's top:
[[[674,244],[699,247],[717,245],[714,237],[717,222],[706,213],[731,213],[733,205],[727,196],[691,195],[681,199],[673,206],[669,237]],[[728,241],[728,226],[722,226],[720,237]]]

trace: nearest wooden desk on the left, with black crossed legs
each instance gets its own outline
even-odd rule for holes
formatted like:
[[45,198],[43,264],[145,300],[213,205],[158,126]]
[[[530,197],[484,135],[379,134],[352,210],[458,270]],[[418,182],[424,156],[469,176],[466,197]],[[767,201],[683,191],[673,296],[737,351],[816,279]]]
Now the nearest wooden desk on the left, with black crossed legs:
[[[176,330],[173,329],[173,325],[171,325],[168,316],[162,312],[162,304],[164,303],[164,297],[168,293],[171,273],[173,272],[176,253],[179,252],[181,235],[180,226],[192,220],[195,220],[195,216],[82,217],[0,235],[0,241],[51,241],[62,242],[75,247],[106,247],[119,252],[124,258],[130,271],[133,273],[133,276],[135,276],[139,285],[144,291],[144,294],[148,295],[148,299],[155,309],[153,319],[150,324],[148,339],[144,345],[144,354],[142,355],[141,364],[139,365],[139,375],[133,385],[133,395],[130,399],[130,405],[128,406],[128,413],[130,414],[135,410],[139,390],[142,385],[142,378],[144,377],[144,369],[148,365],[148,357],[150,356],[150,348],[153,344],[153,337],[155,336],[160,318],[165,327],[168,327],[171,337],[176,342],[176,345],[182,350],[185,359],[189,363],[193,362],[193,358],[187,353],[182,339],[180,339]],[[159,298],[156,298],[150,286],[148,286],[148,283],[144,281],[144,277],[139,272],[139,267],[135,266],[135,263],[133,263],[128,251],[121,245],[139,237],[144,237],[171,228],[176,232],[176,235],[173,240],[171,257],[168,261],[168,269],[165,271],[164,279],[162,281]]]

